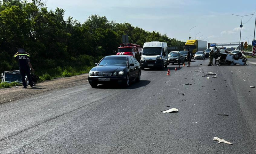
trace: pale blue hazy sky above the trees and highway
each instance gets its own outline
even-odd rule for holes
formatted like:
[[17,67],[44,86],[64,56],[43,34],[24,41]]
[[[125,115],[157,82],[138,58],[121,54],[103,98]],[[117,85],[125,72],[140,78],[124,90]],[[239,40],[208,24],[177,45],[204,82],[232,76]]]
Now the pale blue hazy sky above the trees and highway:
[[[186,41],[189,37],[207,37],[208,42],[239,42],[241,17],[256,10],[256,0],[47,0],[48,9],[66,10],[65,18],[72,16],[84,22],[98,14],[116,22],[129,22],[147,31],[158,31],[171,38]],[[254,33],[255,15],[243,24],[242,38],[250,43]],[[244,17],[247,22],[251,16]]]

